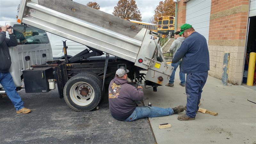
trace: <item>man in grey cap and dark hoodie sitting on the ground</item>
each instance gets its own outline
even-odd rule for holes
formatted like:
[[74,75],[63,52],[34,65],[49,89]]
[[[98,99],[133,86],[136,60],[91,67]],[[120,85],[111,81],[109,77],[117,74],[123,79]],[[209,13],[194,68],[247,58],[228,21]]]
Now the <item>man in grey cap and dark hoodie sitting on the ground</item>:
[[129,70],[117,69],[116,77],[108,87],[109,110],[111,115],[122,121],[134,121],[144,117],[169,116],[183,112],[183,106],[176,108],[138,107],[135,101],[143,100],[144,93],[141,86],[138,88],[128,84]]

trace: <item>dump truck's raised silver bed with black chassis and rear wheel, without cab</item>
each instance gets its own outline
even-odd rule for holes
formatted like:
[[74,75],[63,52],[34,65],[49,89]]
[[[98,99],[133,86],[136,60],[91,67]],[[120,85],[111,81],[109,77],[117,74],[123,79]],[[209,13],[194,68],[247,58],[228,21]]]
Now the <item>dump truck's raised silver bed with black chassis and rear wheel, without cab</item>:
[[[157,33],[143,26],[70,0],[22,0],[17,23],[33,26],[88,47],[72,58],[47,61],[23,71],[26,93],[49,92],[58,87],[59,97],[76,111],[99,108],[105,84],[118,68],[129,69],[131,84],[145,87],[168,83],[173,67],[159,47]],[[106,53],[105,59],[90,59]],[[109,54],[115,56],[109,59]],[[146,70],[147,73],[140,73]],[[148,87],[147,87],[148,86]]]

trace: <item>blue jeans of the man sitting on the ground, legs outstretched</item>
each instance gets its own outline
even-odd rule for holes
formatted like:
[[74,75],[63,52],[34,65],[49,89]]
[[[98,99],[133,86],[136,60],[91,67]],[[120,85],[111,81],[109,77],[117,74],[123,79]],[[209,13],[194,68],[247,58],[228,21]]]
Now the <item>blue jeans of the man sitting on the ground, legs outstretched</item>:
[[160,117],[160,116],[170,116],[173,114],[172,108],[158,108],[158,107],[136,107],[131,116],[129,116],[126,120],[128,122],[135,121],[144,117]]

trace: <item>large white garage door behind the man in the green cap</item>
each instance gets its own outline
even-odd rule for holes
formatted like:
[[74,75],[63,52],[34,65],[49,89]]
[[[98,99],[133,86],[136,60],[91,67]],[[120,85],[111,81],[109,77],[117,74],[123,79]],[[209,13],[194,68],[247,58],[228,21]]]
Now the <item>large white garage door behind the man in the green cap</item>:
[[190,0],[186,7],[186,23],[203,35],[208,44],[211,0]]

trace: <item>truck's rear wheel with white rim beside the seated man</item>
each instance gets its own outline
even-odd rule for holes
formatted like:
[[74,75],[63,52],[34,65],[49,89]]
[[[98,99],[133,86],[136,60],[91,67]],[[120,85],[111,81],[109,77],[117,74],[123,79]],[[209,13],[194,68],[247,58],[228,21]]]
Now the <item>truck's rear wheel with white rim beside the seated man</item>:
[[90,111],[96,108],[101,99],[101,86],[98,78],[88,73],[71,77],[64,86],[64,99],[76,111]]

